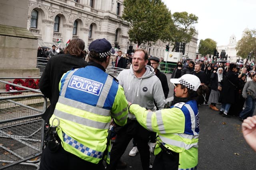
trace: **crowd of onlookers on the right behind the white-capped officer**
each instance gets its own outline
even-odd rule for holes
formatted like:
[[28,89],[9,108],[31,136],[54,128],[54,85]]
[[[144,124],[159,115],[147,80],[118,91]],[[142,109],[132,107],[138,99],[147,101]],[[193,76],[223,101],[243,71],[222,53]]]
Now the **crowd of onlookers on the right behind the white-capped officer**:
[[[236,115],[243,121],[252,116],[255,109],[255,73],[255,66],[246,65],[239,68],[234,63],[210,64],[204,60],[194,63],[187,59],[183,66],[181,62],[177,63],[172,77],[196,75],[201,84],[208,87],[205,93],[198,97],[198,104],[209,105],[211,109],[220,111],[224,117]],[[218,109],[216,104],[221,105],[221,108]]]

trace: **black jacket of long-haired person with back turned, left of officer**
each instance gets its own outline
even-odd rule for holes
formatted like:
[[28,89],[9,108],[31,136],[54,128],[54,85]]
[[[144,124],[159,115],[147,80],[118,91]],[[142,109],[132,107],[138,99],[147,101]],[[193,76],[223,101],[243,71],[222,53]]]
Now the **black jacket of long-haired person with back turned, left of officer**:
[[86,61],[70,54],[55,55],[48,60],[39,82],[39,88],[42,94],[50,100],[50,106],[42,116],[46,123],[49,123],[49,119],[58,102],[60,95],[59,82],[62,75],[72,68],[81,68],[85,66],[87,66]]

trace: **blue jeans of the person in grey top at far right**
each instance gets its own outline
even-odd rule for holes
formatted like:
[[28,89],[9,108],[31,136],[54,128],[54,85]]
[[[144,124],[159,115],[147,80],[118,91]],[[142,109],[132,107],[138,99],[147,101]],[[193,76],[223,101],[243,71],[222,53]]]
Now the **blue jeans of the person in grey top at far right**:
[[255,102],[256,99],[252,99],[252,96],[247,95],[247,98],[245,100],[246,108],[241,111],[239,117],[246,119],[247,117],[252,116],[255,109]]

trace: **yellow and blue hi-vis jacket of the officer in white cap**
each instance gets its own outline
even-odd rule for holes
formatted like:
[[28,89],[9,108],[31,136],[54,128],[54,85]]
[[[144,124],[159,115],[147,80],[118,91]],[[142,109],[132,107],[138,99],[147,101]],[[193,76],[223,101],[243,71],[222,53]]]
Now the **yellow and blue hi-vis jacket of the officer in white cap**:
[[[177,103],[170,109],[147,111],[132,104],[130,113],[149,131],[157,132],[167,149],[180,153],[179,170],[195,170],[198,164],[199,116],[195,100]],[[157,144],[154,154],[161,152]]]

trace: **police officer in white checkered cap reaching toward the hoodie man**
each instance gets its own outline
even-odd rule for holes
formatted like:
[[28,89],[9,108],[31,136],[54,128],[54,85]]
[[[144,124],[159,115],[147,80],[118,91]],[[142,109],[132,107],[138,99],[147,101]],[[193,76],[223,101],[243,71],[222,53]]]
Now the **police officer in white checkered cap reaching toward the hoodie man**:
[[[197,76],[185,74],[172,78],[175,84],[174,106],[156,112],[129,103],[128,110],[144,128],[158,133],[154,170],[196,170],[198,164],[199,116],[196,104],[200,93]],[[200,86],[200,87],[199,87]]]

